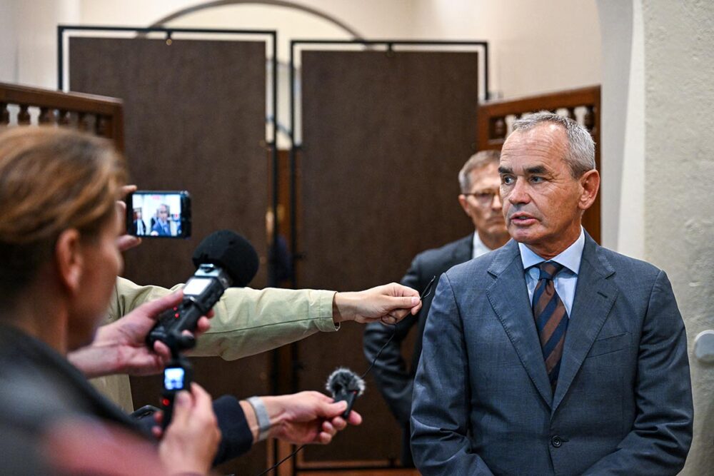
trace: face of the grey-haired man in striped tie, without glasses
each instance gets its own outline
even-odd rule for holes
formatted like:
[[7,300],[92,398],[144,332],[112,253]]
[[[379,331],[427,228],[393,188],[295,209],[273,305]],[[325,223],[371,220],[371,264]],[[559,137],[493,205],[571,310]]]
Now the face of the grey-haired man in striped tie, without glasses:
[[580,218],[600,184],[596,171],[573,178],[567,151],[565,131],[552,123],[512,133],[501,151],[508,233],[543,258],[553,258],[580,236]]

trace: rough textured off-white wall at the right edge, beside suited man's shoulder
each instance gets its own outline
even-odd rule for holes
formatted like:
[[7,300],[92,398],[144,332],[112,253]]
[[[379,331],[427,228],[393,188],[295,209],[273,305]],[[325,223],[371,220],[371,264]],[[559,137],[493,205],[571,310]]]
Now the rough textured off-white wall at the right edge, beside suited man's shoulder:
[[695,335],[714,328],[714,3],[643,2],[645,257],[667,271],[687,325],[694,443],[683,474],[714,468],[714,365]]

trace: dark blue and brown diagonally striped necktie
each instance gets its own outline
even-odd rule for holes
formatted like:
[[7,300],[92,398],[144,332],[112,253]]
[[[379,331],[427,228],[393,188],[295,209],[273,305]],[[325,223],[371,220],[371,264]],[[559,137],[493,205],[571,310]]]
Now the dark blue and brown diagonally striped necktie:
[[543,349],[545,370],[548,371],[550,389],[555,393],[560,372],[560,357],[563,355],[565,330],[568,328],[568,313],[560,296],[555,292],[553,278],[563,265],[545,261],[538,265],[540,278],[533,291],[533,318],[538,329],[540,348]]

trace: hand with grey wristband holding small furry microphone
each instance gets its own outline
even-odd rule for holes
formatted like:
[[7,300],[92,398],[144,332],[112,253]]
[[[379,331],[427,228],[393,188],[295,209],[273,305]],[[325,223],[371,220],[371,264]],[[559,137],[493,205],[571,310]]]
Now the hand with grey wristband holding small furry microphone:
[[[271,421],[268,437],[278,438],[294,445],[317,443],[327,445],[332,437],[347,424],[360,425],[362,417],[352,411],[345,420],[341,415],[347,402],[333,402],[331,397],[319,392],[301,392],[276,397],[260,397]],[[258,437],[258,423],[248,402],[241,401],[248,425],[253,430],[253,440]]]

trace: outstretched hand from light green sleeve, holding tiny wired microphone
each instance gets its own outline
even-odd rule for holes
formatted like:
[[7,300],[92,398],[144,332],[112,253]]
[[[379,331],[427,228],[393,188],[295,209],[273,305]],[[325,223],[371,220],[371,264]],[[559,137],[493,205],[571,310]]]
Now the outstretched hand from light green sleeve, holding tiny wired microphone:
[[332,304],[333,320],[371,323],[381,320],[396,324],[421,309],[419,293],[401,284],[390,283],[356,293],[336,293]]

